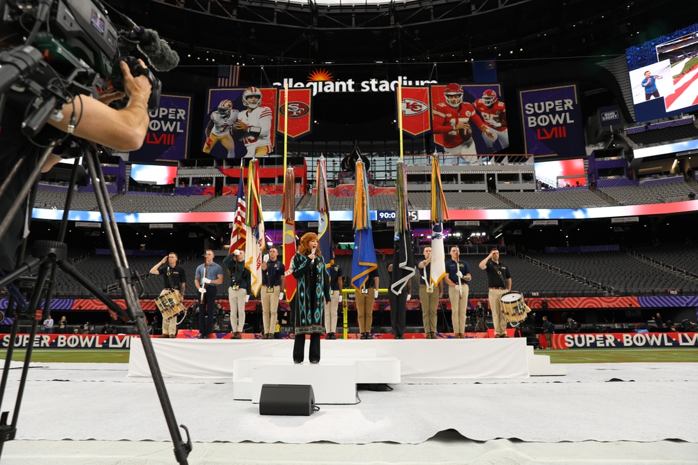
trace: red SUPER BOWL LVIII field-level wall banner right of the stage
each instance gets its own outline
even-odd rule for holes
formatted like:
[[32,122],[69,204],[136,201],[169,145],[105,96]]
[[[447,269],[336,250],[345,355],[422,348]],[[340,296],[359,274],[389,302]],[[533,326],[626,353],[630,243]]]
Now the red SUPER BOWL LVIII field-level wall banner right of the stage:
[[[545,335],[538,335],[541,347]],[[553,349],[605,349],[608,347],[698,347],[698,333],[590,333],[553,334]]]

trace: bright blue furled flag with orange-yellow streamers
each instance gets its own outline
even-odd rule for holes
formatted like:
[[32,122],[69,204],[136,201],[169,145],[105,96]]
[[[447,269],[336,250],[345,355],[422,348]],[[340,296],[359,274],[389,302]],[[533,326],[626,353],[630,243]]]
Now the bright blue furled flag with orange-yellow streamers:
[[354,188],[354,254],[352,255],[352,286],[359,291],[369,279],[369,273],[378,268],[376,249],[373,247],[373,229],[369,218],[369,181],[364,162],[356,162]]

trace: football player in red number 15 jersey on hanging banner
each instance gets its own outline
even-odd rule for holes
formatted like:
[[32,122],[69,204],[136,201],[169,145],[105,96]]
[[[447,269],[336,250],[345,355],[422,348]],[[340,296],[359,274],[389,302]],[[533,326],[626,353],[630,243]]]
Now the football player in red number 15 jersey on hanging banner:
[[473,141],[470,121],[472,120],[491,141],[494,141],[496,136],[489,126],[482,122],[473,104],[463,102],[463,89],[459,84],[448,84],[443,95],[446,101],[438,103],[432,110],[433,132],[443,136],[441,145],[446,153],[455,155],[456,164],[474,163],[477,161],[477,148]]

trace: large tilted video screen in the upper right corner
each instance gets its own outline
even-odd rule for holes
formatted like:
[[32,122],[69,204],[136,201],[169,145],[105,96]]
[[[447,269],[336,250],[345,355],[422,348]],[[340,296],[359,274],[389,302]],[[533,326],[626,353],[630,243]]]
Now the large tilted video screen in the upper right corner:
[[637,121],[698,109],[698,24],[625,51]]

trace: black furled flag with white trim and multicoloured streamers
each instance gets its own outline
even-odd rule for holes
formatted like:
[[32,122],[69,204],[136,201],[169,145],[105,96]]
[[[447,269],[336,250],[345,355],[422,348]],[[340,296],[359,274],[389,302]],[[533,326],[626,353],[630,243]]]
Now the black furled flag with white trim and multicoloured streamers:
[[407,209],[407,169],[405,161],[400,159],[396,164],[397,179],[395,182],[395,237],[392,284],[390,291],[399,296],[409,280],[415,275],[415,253],[413,246],[412,228]]

